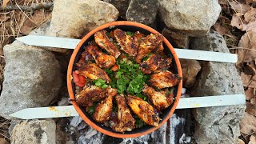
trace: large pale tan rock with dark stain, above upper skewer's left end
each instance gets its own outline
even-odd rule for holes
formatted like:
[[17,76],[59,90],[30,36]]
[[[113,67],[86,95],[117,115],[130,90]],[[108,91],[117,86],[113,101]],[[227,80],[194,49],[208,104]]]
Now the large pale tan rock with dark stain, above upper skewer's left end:
[[118,10],[99,0],[55,0],[50,35],[81,38],[90,30],[118,18]]

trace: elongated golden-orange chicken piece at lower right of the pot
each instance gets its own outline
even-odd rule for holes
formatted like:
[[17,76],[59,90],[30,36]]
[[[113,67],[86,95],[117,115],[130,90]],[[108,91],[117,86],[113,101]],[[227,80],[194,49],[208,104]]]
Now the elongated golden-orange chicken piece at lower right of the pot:
[[128,95],[126,99],[130,109],[133,110],[134,114],[137,114],[142,121],[150,126],[158,126],[160,118],[154,113],[153,106],[148,102],[143,101],[142,98],[134,97],[132,95]]

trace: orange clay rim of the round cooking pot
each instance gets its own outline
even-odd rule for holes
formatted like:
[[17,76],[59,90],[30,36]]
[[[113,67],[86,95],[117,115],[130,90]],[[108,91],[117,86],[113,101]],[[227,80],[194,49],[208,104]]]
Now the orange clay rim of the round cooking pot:
[[[73,89],[72,89],[72,82],[71,82],[70,77],[71,77],[71,74],[72,74],[74,59],[76,58],[76,55],[78,54],[78,50],[80,49],[80,47],[82,47],[83,43],[86,42],[86,40],[88,38],[90,38],[95,32],[97,32],[98,30],[106,29],[110,26],[136,26],[136,27],[140,27],[144,30],[149,31],[152,34],[159,34],[157,30],[154,30],[150,26],[146,26],[146,25],[143,25],[143,24],[138,23],[138,22],[129,22],[129,21],[118,21],[118,22],[106,23],[106,24],[104,24],[102,26],[98,26],[94,30],[90,31],[90,33],[86,34],[86,36],[84,36],[82,38],[82,40],[78,43],[78,46],[76,46],[76,48],[74,49],[74,52],[73,52],[73,54],[71,55],[71,58],[70,58],[70,62],[69,62],[68,70],[67,70],[67,77],[66,77],[67,88],[68,88],[68,92],[69,92],[69,95],[70,95],[70,99],[75,99]],[[174,57],[174,60],[176,62],[176,66],[177,66],[177,69],[178,69],[178,75],[180,77],[182,77],[182,67],[181,67],[181,64],[178,60],[178,56],[177,56],[176,52],[174,51],[174,47],[171,46],[170,42],[168,42],[168,40],[166,38],[164,38],[163,42],[165,42],[166,46],[170,49],[170,52],[172,53],[172,55]],[[150,130],[143,131],[142,133],[135,133],[135,134],[121,134],[121,133],[117,134],[117,133],[113,133],[113,132],[108,131],[108,130],[104,130],[101,127],[97,126],[94,122],[91,122],[90,119],[86,117],[86,115],[82,112],[82,110],[78,106],[77,102],[72,101],[72,104],[73,104],[75,110],[77,110],[80,117],[82,117],[82,119],[88,125],[92,126],[95,130],[100,131],[102,134],[106,134],[106,135],[109,135],[109,136],[115,137],[115,138],[135,138],[135,137],[139,137],[139,136],[142,136],[142,135],[145,135],[145,134],[149,134],[150,132],[153,132],[154,130],[157,130],[158,128],[160,128],[171,117],[171,115],[174,114],[174,110],[176,109],[176,107],[178,105],[178,101],[179,101],[179,98],[180,98],[181,94],[182,94],[182,81],[179,82],[179,84],[178,84],[178,92],[177,92],[177,95],[176,95],[176,98],[175,98],[176,100],[175,100],[175,102],[174,102],[174,104],[173,104],[173,106],[170,110],[170,113],[166,116],[166,118],[164,118],[162,120],[161,123],[159,123],[159,126],[158,127],[153,127]]]

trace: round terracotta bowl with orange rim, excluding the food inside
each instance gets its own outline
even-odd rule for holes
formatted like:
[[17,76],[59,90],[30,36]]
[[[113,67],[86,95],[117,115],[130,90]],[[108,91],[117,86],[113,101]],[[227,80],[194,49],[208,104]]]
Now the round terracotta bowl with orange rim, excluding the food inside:
[[[114,28],[113,28],[114,26]],[[85,37],[82,38],[82,40],[78,43],[78,46],[74,49],[74,52],[70,58],[70,63],[68,66],[67,70],[67,87],[68,91],[70,94],[70,99],[75,99],[74,98],[74,83],[71,82],[70,77],[72,74],[72,71],[75,70],[75,63],[78,62],[80,54],[82,54],[83,51],[83,46],[86,46],[88,42],[92,41],[94,39],[94,33],[97,32],[98,30],[107,30],[110,31],[111,29],[119,28],[124,31],[140,31],[143,34],[158,34],[157,30],[154,30],[150,28],[149,26],[143,25],[141,23],[137,22],[128,22],[128,21],[119,21],[119,22],[110,22],[102,26],[98,26],[96,29],[90,31],[90,33],[86,34]],[[169,55],[170,57],[173,58],[173,70],[176,74],[178,74],[180,77],[182,77],[182,68],[180,65],[180,62],[178,60],[178,56],[174,51],[173,46],[170,45],[170,42],[167,41],[166,38],[164,38],[163,41],[164,45],[164,51],[166,55]],[[138,136],[142,136],[144,134],[149,134],[150,132],[157,130],[162,124],[164,124],[170,116],[174,113],[174,110],[176,109],[176,106],[178,105],[179,98],[181,96],[182,92],[182,81],[179,82],[178,86],[174,86],[174,96],[175,96],[175,101],[174,103],[169,106],[166,110],[162,111],[162,114],[160,115],[160,118],[162,120],[159,122],[158,127],[154,126],[143,126],[142,128],[134,129],[130,132],[125,132],[125,133],[118,133],[112,130],[110,127],[102,126],[102,124],[95,122],[94,119],[90,116],[90,114],[87,114],[85,109],[82,108],[82,106],[78,106],[78,103],[73,101],[72,104],[77,110],[78,114],[82,119],[90,126],[92,126],[94,129],[102,132],[103,134],[107,134],[112,137],[116,138],[134,138]]]

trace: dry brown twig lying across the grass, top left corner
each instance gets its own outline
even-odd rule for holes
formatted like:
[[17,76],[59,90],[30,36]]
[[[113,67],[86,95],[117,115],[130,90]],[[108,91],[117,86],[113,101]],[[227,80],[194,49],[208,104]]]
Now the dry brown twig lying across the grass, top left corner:
[[27,12],[30,12],[30,14],[33,14],[35,10],[45,9],[50,10],[54,6],[54,2],[42,2],[42,3],[36,3],[32,6],[6,6],[6,8],[0,7],[0,11],[2,10],[24,10]]

